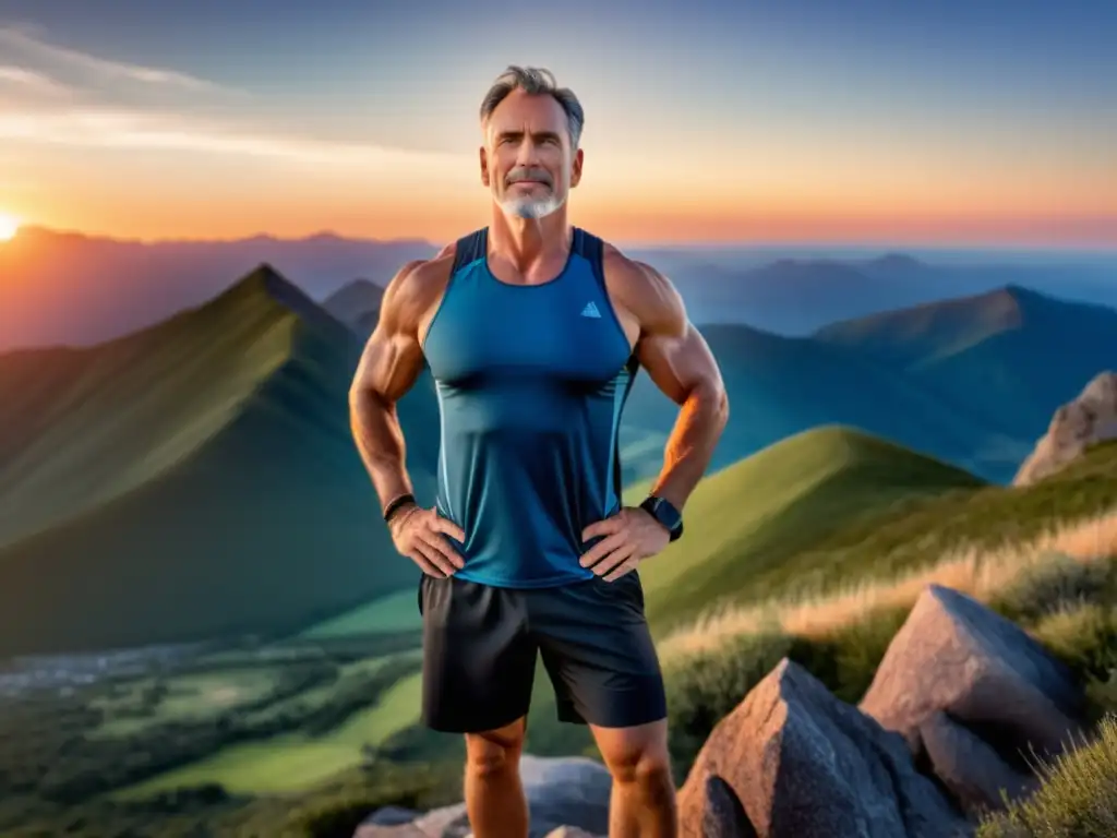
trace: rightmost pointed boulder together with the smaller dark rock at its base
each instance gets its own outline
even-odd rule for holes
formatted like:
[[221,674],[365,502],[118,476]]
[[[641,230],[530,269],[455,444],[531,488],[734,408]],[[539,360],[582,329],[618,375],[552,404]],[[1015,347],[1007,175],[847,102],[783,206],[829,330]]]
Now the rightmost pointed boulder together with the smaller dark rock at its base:
[[885,653],[860,708],[904,736],[967,809],[1032,787],[1032,753],[1085,733],[1070,670],[964,593],[929,585]]

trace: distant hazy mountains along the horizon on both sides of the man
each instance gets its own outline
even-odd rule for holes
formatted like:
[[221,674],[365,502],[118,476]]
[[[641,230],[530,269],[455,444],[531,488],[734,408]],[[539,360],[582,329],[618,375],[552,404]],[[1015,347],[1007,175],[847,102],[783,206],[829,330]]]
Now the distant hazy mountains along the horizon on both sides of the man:
[[[465,232],[465,231],[464,231]],[[441,242],[323,234],[235,241],[121,241],[28,228],[0,246],[0,351],[86,345],[152,325],[227,288],[260,263],[324,302],[364,278],[383,286]],[[1010,284],[1117,306],[1117,256],[1065,263],[928,264],[897,253],[849,259],[634,249],[679,287],[696,323],[805,335],[838,320]]]

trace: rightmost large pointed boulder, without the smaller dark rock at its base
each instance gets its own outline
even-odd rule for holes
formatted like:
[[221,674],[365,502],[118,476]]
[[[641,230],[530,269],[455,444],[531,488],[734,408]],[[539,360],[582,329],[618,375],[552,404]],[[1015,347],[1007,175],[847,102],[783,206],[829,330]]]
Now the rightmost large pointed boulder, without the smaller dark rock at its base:
[[1009,764],[1053,756],[1080,740],[1085,696],[1070,670],[1019,626],[933,584],[885,653],[861,710],[900,733],[917,756],[920,725],[943,711]]

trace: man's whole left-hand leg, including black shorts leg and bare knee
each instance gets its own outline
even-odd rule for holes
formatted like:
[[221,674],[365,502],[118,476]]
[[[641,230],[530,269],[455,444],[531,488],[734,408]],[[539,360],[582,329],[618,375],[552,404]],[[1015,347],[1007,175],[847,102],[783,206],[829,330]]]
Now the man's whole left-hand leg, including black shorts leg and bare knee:
[[465,798],[476,838],[527,838],[519,753],[536,647],[519,591],[423,577],[422,717],[466,740]]

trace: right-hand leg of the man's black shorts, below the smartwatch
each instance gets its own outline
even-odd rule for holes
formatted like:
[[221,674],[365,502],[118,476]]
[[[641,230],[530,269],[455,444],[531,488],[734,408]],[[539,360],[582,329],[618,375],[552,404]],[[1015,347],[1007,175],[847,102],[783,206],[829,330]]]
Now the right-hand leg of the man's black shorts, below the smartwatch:
[[662,673],[636,571],[613,582],[594,577],[527,593],[528,622],[561,721],[632,727],[666,718]]

